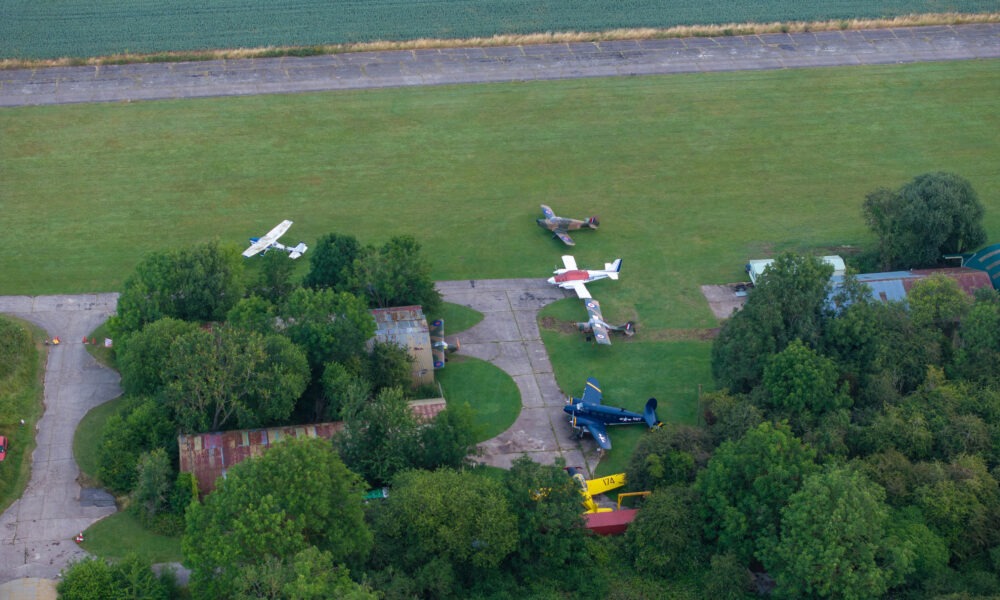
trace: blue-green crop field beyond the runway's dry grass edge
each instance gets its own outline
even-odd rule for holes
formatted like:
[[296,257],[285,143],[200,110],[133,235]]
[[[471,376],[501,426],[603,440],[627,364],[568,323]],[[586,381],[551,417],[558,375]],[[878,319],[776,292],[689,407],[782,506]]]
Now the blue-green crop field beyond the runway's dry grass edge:
[[996,10],[996,0],[5,0],[0,3],[0,58]]

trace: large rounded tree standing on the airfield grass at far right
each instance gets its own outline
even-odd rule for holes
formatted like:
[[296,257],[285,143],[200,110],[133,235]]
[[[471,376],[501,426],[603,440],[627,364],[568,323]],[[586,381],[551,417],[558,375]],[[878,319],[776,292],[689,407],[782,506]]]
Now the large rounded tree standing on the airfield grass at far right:
[[875,190],[863,212],[879,238],[886,270],[933,266],[943,254],[968,252],[986,241],[983,206],[972,185],[952,173],[925,173],[897,191]]

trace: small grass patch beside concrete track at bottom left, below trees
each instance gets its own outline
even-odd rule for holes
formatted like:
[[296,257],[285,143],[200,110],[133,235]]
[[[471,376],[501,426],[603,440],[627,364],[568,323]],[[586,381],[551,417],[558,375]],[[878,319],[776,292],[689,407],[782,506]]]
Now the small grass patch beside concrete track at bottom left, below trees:
[[128,511],[94,523],[83,533],[84,550],[101,558],[121,559],[136,554],[151,563],[180,562],[181,538],[158,535],[145,529]]

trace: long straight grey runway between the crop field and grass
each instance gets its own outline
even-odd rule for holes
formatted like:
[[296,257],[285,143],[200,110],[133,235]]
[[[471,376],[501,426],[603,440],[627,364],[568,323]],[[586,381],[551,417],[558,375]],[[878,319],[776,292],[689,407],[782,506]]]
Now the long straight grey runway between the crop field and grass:
[[1000,24],[0,71],[0,106],[1000,58]]

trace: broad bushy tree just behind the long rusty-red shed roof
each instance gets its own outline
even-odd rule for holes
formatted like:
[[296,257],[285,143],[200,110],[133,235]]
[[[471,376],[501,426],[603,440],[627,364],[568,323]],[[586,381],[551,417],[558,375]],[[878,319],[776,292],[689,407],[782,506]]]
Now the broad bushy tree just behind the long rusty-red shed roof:
[[291,342],[230,327],[177,338],[163,371],[164,400],[189,433],[286,419],[309,383],[305,356]]

